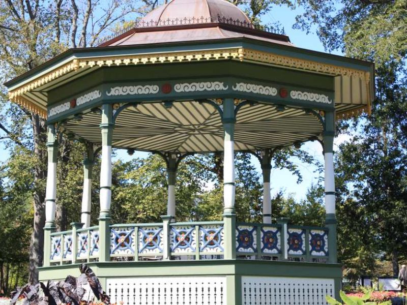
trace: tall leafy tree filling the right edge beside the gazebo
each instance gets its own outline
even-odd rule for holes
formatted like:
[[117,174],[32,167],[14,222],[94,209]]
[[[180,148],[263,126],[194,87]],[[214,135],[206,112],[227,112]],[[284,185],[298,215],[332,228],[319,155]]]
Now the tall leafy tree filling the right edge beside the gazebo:
[[[403,0],[300,3],[305,13],[297,17],[298,28],[310,31],[316,24],[327,50],[339,49],[346,56],[375,63],[376,99],[371,115],[339,125],[339,130],[351,127],[357,131],[350,143],[340,146],[337,157],[339,242],[341,238],[353,240],[348,236],[358,232],[366,249],[380,249],[385,257],[391,257],[397,276],[398,256],[407,245],[403,234],[407,208],[407,4]],[[348,246],[355,249],[356,245]]]

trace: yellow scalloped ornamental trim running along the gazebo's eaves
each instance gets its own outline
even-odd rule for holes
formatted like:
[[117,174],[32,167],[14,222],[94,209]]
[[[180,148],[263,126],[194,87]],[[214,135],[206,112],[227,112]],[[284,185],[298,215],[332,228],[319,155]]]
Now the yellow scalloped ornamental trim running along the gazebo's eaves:
[[284,66],[292,69],[300,69],[317,73],[324,73],[332,76],[348,75],[357,76],[366,82],[369,86],[370,73],[363,70],[356,70],[340,66],[333,66],[324,63],[318,63],[311,60],[304,60],[295,57],[277,55],[273,53],[261,52],[252,49],[244,48],[229,48],[210,51],[190,51],[190,52],[172,52],[172,53],[155,53],[146,56],[141,55],[120,55],[106,57],[88,57],[75,58],[70,62],[55,68],[54,70],[45,73],[34,80],[27,82],[15,89],[9,91],[11,101],[19,104],[27,110],[33,111],[40,116],[46,118],[47,111],[45,105],[38,104],[25,93],[30,92],[40,86],[43,86],[63,75],[81,71],[81,69],[90,69],[93,67],[111,67],[111,66],[128,66],[138,64],[155,64],[155,63],[180,63],[199,60],[224,60],[235,59],[250,60],[260,63],[266,63],[276,66]]

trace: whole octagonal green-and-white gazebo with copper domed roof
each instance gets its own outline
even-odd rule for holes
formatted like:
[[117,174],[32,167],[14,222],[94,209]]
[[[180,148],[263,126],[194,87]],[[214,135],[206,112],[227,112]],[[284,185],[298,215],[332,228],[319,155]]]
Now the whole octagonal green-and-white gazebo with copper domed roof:
[[[77,48],[6,83],[12,101],[47,119],[48,176],[40,280],[88,262],[112,302],[323,304],[338,295],[335,120],[369,112],[373,65],[295,47],[259,31],[225,0],[173,0],[130,31]],[[89,143],[81,222],[55,232],[56,141]],[[325,227],[273,223],[274,151],[309,140],[325,159]],[[112,224],[111,149],[160,154],[168,172],[162,222]],[[93,149],[100,148],[100,217],[90,223]],[[261,163],[263,223],[237,223],[236,151]],[[223,221],[177,222],[177,167],[223,152]],[[152,204],[154,204],[152,202]]]

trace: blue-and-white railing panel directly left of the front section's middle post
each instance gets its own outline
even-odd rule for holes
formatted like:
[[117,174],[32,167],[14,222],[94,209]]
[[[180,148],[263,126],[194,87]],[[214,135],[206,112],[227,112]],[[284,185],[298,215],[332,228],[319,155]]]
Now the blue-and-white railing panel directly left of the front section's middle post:
[[163,231],[161,227],[138,228],[139,247],[141,254],[162,253],[164,248]]

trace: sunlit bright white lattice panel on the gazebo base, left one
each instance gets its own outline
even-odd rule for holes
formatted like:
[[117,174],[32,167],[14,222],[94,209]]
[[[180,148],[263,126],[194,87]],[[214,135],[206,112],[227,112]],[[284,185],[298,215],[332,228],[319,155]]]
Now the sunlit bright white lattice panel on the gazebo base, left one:
[[110,303],[126,305],[226,303],[225,277],[148,277],[107,279]]

